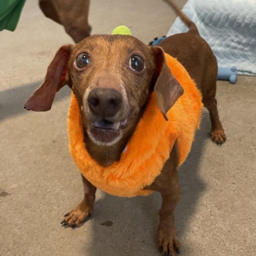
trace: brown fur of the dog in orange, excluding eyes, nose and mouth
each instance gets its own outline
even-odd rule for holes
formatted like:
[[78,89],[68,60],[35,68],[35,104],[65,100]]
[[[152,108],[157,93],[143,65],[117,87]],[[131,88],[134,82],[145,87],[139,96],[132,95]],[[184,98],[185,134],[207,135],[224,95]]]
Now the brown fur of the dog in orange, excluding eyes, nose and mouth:
[[[212,116],[212,137],[218,137],[218,139],[213,139],[219,143],[225,141],[226,137],[218,134],[218,131],[223,131],[223,129],[218,123],[217,108],[214,107],[217,64],[210,47],[197,34],[195,28],[188,33],[165,39],[160,46],[165,52],[177,57],[187,68],[191,77],[195,79],[203,93],[205,106]],[[82,52],[89,53],[91,63],[85,69],[78,69],[75,62],[79,53]],[[132,71],[127,65],[132,54],[140,55],[145,61],[146,68],[137,73]],[[67,58],[67,55],[69,57],[68,63],[58,61]],[[36,111],[49,110],[55,93],[65,82],[75,93],[81,109],[86,148],[95,161],[103,166],[110,165],[120,158],[127,141],[143,115],[153,90],[159,99],[157,101],[158,107],[164,115],[182,94],[179,83],[175,81],[170,70],[166,68],[162,50],[159,47],[147,47],[131,36],[95,35],[85,38],[75,46],[62,46],[47,70],[45,82],[31,95],[25,103],[25,107]],[[47,85],[50,85],[50,89]],[[125,93],[121,87],[118,87],[121,85],[124,87]],[[122,138],[108,146],[97,145],[88,134],[90,123],[95,117],[88,106],[88,91],[86,90],[92,91],[99,86],[111,87],[122,93],[121,110],[117,111],[116,115],[108,117],[109,121],[122,121],[123,118],[128,120]],[[166,92],[171,92],[169,97],[166,97]],[[50,101],[47,97],[49,94],[51,95]],[[177,145],[175,144],[161,175],[156,178],[153,184],[145,188],[158,191],[162,195],[163,203],[159,211],[158,244],[160,251],[163,251],[165,255],[172,256],[175,255],[175,252],[179,252],[179,242],[174,226],[174,209],[180,198],[177,159]],[[81,204],[65,215],[65,219],[61,222],[63,226],[78,227],[90,217],[96,188],[84,177],[83,185],[84,199]]]

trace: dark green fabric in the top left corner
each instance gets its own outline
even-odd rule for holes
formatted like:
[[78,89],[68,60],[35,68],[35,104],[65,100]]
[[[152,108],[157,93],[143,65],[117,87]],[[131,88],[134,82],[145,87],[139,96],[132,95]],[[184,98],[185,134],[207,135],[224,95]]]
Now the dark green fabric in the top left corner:
[[0,31],[14,31],[26,0],[0,0]]

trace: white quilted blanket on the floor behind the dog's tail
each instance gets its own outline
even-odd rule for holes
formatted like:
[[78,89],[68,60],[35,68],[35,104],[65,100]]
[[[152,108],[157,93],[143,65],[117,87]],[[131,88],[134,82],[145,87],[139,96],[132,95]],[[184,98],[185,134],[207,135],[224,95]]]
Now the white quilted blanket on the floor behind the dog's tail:
[[[256,0],[188,0],[182,11],[211,46],[219,67],[256,76]],[[186,31],[177,18],[167,36]]]

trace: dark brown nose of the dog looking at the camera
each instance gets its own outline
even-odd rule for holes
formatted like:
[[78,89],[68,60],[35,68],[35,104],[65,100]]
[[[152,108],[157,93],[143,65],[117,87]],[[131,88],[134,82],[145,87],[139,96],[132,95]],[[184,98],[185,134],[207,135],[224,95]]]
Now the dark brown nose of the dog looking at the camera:
[[123,98],[115,89],[96,88],[88,95],[92,112],[102,118],[114,116],[121,109]]

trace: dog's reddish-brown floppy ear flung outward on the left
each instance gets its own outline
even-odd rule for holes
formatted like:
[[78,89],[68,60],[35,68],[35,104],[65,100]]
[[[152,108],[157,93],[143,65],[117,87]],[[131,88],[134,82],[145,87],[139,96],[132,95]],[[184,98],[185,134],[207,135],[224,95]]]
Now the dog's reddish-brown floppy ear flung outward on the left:
[[26,101],[24,108],[33,111],[47,111],[52,107],[55,94],[67,84],[68,61],[72,45],[64,45],[55,54],[44,82]]

